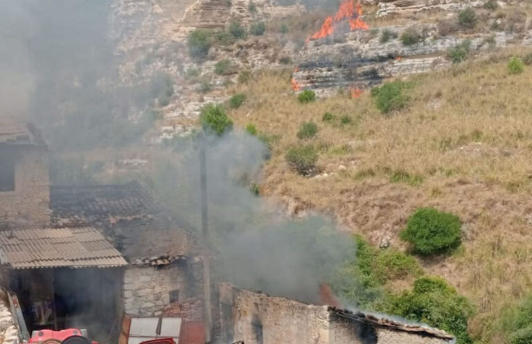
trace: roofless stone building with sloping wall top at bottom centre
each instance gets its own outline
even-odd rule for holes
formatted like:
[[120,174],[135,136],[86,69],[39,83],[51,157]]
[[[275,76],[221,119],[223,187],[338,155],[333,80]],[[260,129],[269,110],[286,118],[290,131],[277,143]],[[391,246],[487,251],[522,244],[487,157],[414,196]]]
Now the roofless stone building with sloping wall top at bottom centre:
[[441,330],[220,284],[222,341],[245,344],[449,344]]

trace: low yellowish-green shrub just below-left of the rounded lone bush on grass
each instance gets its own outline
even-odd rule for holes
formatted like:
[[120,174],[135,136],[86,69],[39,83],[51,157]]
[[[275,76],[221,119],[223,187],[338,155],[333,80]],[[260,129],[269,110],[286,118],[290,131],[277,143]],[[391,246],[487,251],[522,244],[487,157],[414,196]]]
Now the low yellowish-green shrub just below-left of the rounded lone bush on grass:
[[422,274],[423,269],[416,258],[399,251],[391,249],[382,251],[375,260],[375,275],[381,283]]

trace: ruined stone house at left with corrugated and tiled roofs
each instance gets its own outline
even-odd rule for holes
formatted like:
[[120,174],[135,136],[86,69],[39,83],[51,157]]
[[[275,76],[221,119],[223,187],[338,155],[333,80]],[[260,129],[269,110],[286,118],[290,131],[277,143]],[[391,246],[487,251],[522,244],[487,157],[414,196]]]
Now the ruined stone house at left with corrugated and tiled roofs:
[[30,331],[117,332],[123,311],[157,316],[196,297],[197,246],[182,228],[136,182],[50,185],[39,132],[0,125],[0,282]]

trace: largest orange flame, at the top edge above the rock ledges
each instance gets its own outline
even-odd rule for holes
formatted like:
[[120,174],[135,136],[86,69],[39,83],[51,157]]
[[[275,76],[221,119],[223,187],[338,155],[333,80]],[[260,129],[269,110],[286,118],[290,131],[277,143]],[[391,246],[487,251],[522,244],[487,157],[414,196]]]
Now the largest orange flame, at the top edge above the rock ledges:
[[335,24],[344,19],[349,21],[351,31],[368,30],[368,24],[360,19],[360,16],[362,16],[362,6],[360,6],[360,3],[355,4],[355,0],[346,0],[340,5],[336,15],[327,17],[325,21],[323,21],[321,29],[319,29],[317,33],[314,33],[314,35],[308,37],[307,41],[332,35],[332,33],[335,32]]

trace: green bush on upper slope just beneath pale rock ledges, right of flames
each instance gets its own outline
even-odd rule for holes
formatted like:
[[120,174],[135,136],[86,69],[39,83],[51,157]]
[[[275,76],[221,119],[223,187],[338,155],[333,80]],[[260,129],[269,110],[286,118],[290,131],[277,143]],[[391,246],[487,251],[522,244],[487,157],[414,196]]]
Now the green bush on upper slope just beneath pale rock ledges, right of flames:
[[405,89],[410,85],[406,82],[386,82],[381,87],[373,87],[371,96],[375,98],[375,106],[382,114],[398,111],[407,106],[409,97],[405,95]]

